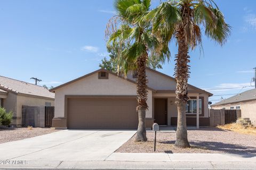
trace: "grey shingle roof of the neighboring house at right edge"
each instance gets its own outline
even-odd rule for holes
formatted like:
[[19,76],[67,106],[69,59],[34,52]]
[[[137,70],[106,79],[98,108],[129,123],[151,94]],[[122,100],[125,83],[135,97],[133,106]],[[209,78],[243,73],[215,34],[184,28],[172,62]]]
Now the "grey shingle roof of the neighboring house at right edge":
[[246,100],[256,100],[256,89],[247,90],[245,92],[242,92],[241,94],[238,94],[236,96],[233,96],[225,100],[222,100],[218,103],[215,103],[212,106],[229,104],[229,103],[237,103],[237,102],[246,101]]

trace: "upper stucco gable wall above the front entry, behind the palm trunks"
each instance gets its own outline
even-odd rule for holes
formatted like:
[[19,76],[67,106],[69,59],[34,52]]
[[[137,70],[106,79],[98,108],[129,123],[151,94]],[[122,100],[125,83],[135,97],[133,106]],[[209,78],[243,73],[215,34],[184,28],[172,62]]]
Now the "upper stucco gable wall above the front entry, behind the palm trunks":
[[[148,86],[155,90],[175,90],[176,83],[174,79],[168,78],[164,75],[161,75],[157,72],[146,69],[146,75],[148,78]],[[136,81],[132,77],[132,71],[129,71],[127,78]],[[194,88],[188,87],[188,90],[195,90]]]

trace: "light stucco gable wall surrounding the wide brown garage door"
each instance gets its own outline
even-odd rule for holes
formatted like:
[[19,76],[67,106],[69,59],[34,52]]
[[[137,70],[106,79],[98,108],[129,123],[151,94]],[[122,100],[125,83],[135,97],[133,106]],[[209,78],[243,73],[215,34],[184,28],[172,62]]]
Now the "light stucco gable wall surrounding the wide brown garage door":
[[[98,79],[98,73],[89,77],[70,83],[67,86],[55,90],[55,117],[64,117],[65,115],[65,95],[119,95],[135,96],[136,84],[118,78],[109,73],[108,79]],[[152,117],[152,91],[148,93],[149,110],[146,117]]]

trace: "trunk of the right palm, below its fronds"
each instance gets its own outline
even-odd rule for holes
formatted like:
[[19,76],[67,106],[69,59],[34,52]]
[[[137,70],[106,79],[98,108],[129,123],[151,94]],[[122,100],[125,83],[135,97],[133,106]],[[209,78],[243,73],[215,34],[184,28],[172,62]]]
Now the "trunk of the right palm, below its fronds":
[[[180,35],[180,36],[179,36]],[[188,142],[187,123],[186,123],[186,104],[188,101],[188,78],[189,78],[189,56],[188,45],[183,33],[178,38],[178,55],[175,56],[175,81],[176,81],[176,105],[178,108],[178,123],[176,131],[175,146],[186,148],[190,147]]]

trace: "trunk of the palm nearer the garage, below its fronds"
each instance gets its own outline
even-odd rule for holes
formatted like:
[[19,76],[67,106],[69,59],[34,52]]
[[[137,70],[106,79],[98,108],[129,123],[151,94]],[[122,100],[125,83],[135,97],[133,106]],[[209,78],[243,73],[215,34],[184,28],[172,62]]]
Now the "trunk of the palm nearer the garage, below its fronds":
[[142,55],[137,60],[137,95],[138,95],[138,117],[139,117],[139,124],[137,130],[137,136],[135,138],[136,142],[139,141],[147,141],[146,136],[146,124],[145,124],[145,117],[146,117],[146,109],[148,109],[147,105],[147,76],[146,76],[146,61],[147,61],[147,54]]

